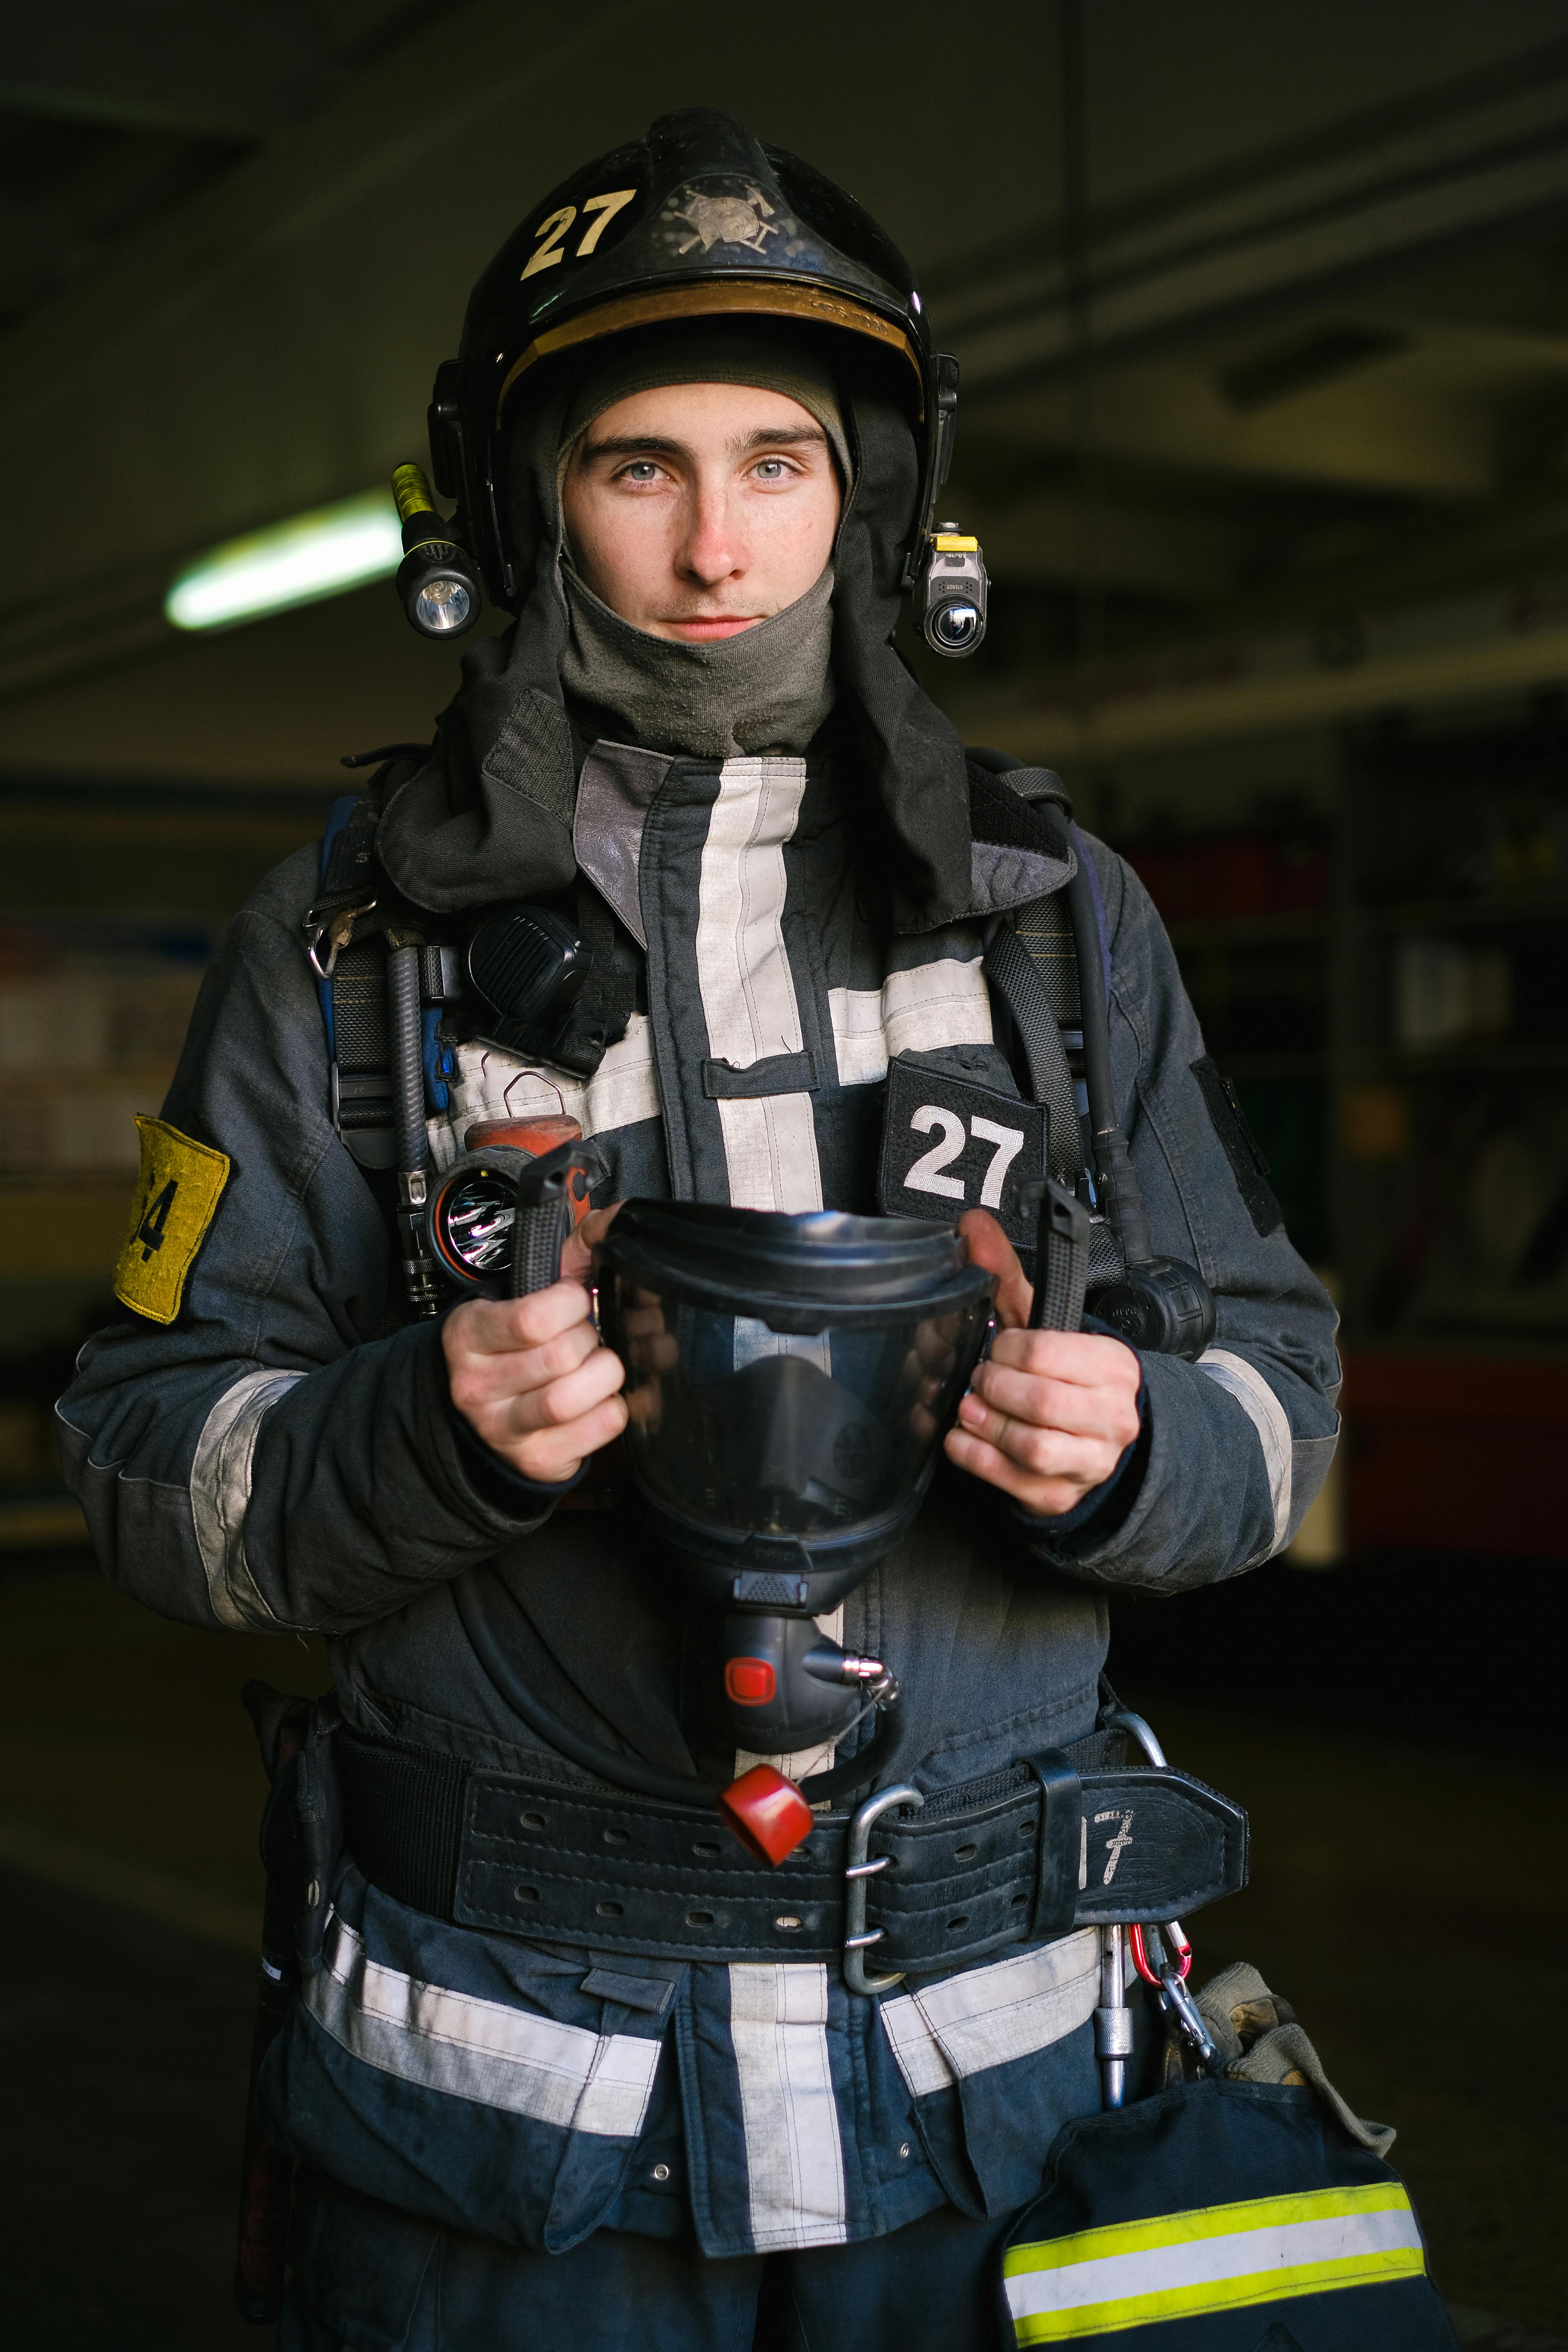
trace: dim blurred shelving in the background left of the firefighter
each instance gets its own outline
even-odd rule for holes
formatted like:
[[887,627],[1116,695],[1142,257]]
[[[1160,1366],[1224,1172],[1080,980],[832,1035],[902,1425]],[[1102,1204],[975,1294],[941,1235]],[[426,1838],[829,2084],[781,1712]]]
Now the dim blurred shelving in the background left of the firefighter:
[[327,793],[0,776],[0,1552],[80,1545],[54,1397],[115,1312],[139,1164],[202,974]]

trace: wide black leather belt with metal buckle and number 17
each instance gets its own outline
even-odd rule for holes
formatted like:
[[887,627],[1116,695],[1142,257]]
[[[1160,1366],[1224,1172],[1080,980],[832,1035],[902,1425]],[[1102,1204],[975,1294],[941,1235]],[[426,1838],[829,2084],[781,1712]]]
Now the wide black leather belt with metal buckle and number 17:
[[846,1813],[820,1816],[769,1870],[708,1809],[477,1771],[348,1729],[334,1745],[364,1877],[531,1943],[839,1959],[860,1931],[879,1971],[919,1976],[1074,1926],[1178,1919],[1246,1884],[1241,1806],[1187,1773],[1126,1764],[1119,1733],[884,1811],[853,1882]]

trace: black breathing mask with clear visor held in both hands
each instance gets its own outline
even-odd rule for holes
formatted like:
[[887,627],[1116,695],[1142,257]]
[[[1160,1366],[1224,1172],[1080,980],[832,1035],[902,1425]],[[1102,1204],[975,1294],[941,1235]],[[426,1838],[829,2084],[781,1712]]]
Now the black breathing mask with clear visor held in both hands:
[[919,1510],[992,1294],[952,1228],[696,1202],[616,1216],[599,1317],[625,1364],[628,1463],[677,1569],[724,1611],[738,1745],[799,1750],[867,1712],[882,1661],[813,1621]]

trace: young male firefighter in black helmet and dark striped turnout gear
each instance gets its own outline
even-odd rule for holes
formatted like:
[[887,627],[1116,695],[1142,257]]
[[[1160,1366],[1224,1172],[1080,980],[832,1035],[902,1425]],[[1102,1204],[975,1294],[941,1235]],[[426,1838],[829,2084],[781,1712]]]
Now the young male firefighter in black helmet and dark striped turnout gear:
[[[891,240],[724,115],[665,115],[543,198],[433,405],[454,541],[515,623],[433,746],[230,924],[143,1122],[127,1312],[59,1409],[73,1486],[113,1583],[322,1632],[336,1686],[327,1860],[261,2070],[296,2161],[292,2352],[733,2347],[759,2312],[780,2343],[990,2343],[1009,2220],[1100,2105],[1095,1929],[1041,1933],[1025,1896],[969,1926],[973,1839],[931,1879],[938,1947],[856,1992],[783,1882],[552,1752],[475,1653],[454,1588],[482,1573],[576,1736],[736,1769],[703,1628],[607,1470],[623,1367],[583,1277],[618,1202],[961,1216],[994,1272],[926,1501],[823,1628],[898,1661],[898,1778],[933,1823],[992,1823],[1018,1759],[1088,1752],[1107,1592],[1276,1555],[1328,1468],[1333,1310],[1145,891],[1056,779],[966,755],[893,644],[907,595],[938,644],[983,633],[976,550],[938,529],[954,402]],[[475,922],[520,906],[574,971],[548,1051],[498,1044],[461,983]],[[404,1296],[409,946],[428,1171],[484,1120],[595,1145],[592,1216],[527,1298]],[[1121,1178],[1081,1115],[1084,969]],[[1093,1207],[1103,1298],[1126,1261],[1199,1268],[1218,1327],[1178,1352],[1126,1317],[1027,1329],[1032,1162]],[[839,1860],[877,1785],[858,1738],[773,1757],[832,1773],[813,1846]],[[1093,1835],[1133,1867],[1138,1832]]]

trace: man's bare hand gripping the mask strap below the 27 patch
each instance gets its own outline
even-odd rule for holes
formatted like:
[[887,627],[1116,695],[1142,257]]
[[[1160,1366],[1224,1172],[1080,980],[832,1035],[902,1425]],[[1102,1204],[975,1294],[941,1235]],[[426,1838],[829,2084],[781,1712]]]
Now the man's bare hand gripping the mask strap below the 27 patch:
[[1041,1519],[1060,1519],[1103,1486],[1138,1435],[1143,1367],[1119,1338],[1030,1331],[1034,1291],[987,1209],[959,1218],[976,1265],[999,1275],[990,1362],[976,1364],[947,1458],[1001,1486]]

